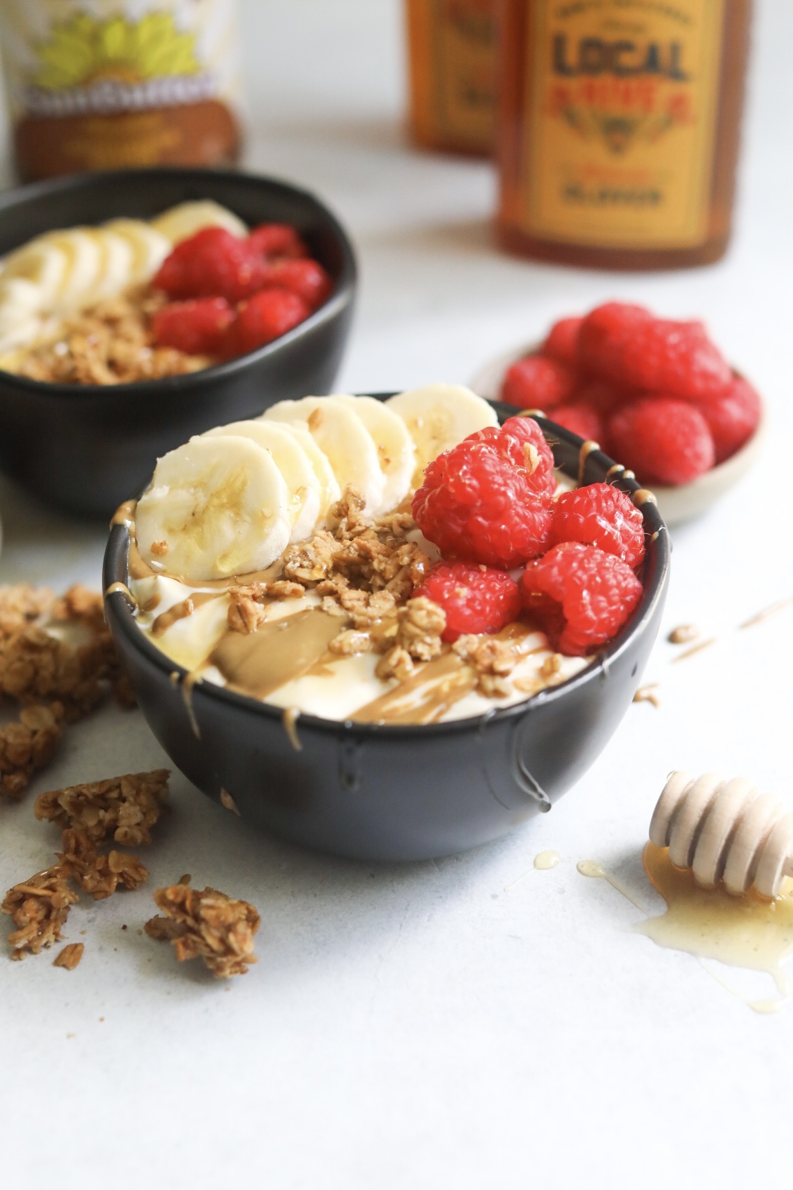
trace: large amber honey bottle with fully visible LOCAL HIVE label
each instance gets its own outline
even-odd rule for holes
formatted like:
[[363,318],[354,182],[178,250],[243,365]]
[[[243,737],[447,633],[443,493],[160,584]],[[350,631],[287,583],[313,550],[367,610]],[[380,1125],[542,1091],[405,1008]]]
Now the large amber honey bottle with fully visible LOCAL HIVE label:
[[502,0],[498,234],[604,269],[730,238],[751,0]]

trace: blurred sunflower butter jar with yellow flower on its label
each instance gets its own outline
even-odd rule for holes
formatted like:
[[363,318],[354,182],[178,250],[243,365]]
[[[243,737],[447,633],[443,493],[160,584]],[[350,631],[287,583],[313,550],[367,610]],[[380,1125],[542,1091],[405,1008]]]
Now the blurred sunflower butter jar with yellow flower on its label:
[[24,180],[239,150],[235,0],[0,0]]

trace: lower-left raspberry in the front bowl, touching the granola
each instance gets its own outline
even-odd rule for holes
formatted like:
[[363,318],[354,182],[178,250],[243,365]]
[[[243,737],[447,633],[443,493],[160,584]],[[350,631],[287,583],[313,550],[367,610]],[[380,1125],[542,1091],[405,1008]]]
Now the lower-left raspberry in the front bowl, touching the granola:
[[414,599],[420,595],[446,612],[442,639],[449,644],[467,632],[498,632],[521,614],[521,593],[509,575],[465,562],[433,566]]

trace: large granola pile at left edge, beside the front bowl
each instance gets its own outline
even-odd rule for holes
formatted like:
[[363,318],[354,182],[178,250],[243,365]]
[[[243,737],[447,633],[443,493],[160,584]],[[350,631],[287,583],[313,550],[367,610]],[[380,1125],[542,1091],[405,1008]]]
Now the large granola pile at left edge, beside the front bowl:
[[[78,626],[81,644],[55,630]],[[0,587],[0,699],[23,704],[19,719],[0,728],[0,795],[20,797],[31,776],[52,756],[64,724],[76,722],[103,700],[134,706],[105,624],[102,596],[77,584],[61,599],[48,588]]]

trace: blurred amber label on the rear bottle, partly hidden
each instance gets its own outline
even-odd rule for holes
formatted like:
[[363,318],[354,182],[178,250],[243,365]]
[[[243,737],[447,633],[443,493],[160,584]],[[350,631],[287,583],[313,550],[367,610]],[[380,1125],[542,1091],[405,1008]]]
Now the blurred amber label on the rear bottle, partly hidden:
[[493,0],[430,0],[435,126],[471,149],[492,146],[496,117]]

